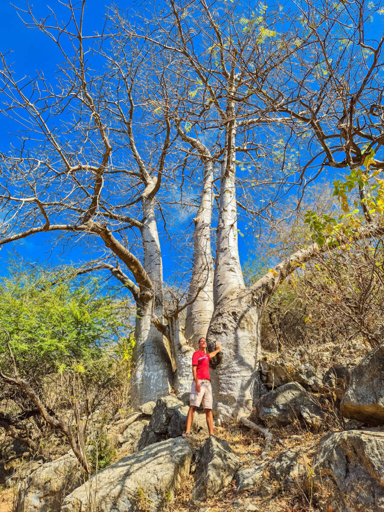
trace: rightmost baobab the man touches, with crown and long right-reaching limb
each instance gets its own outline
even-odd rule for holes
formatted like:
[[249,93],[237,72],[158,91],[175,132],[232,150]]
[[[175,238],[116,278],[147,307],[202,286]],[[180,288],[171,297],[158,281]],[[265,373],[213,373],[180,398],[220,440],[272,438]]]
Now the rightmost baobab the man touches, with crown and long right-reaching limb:
[[[170,0],[163,17],[155,16],[152,26],[130,28],[131,34],[152,42],[162,55],[172,55],[168,67],[173,67],[174,75],[168,82],[173,94],[169,96],[176,99],[170,116],[180,138],[201,155],[205,165],[213,160],[221,167],[214,312],[207,336],[210,345],[220,340],[223,346],[216,369],[219,408],[231,414],[249,410],[254,398],[252,387],[257,395],[259,387],[254,383],[261,357],[261,313],[282,280],[319,252],[338,247],[340,240],[353,241],[381,232],[380,219],[373,222],[371,218],[375,211],[380,213],[380,194],[377,201],[369,199],[363,183],[371,166],[378,170],[382,165],[374,158],[382,137],[377,81],[382,40],[368,39],[372,6],[356,5],[353,10],[339,6],[334,11],[325,3],[319,11],[303,4],[291,13],[290,27],[286,12],[283,22],[275,13],[272,19],[268,17],[264,8],[259,15],[248,11],[240,18],[238,8],[220,2],[208,7],[204,1],[191,5]],[[353,19],[358,22],[352,23]],[[279,28],[281,33],[284,29],[287,32],[285,38]],[[356,67],[356,56],[363,58],[361,69]],[[180,82],[181,92],[175,87]],[[376,118],[373,124],[368,110],[371,118]],[[308,222],[317,229],[315,243],[246,288],[238,250],[237,154],[245,152],[249,157],[252,151],[260,150],[263,125],[264,140],[273,133],[272,126],[280,126],[285,137],[285,152],[278,163],[282,173],[274,182],[280,194],[272,196],[273,201],[271,195],[268,197],[270,205],[275,206],[287,190],[295,190],[300,201],[307,183],[327,167],[345,172],[348,167],[365,166],[365,171],[352,173],[348,184],[336,190],[336,194],[341,191],[345,202],[346,190],[358,185],[356,208],[364,212],[365,225],[357,220],[357,211],[353,219],[328,218],[322,223],[309,214]],[[215,139],[215,151],[205,142],[209,137]],[[297,138],[301,144],[295,142]],[[342,142],[335,144],[334,139]],[[299,150],[293,172],[287,155],[290,144]],[[345,156],[337,161],[334,155],[340,152]]]

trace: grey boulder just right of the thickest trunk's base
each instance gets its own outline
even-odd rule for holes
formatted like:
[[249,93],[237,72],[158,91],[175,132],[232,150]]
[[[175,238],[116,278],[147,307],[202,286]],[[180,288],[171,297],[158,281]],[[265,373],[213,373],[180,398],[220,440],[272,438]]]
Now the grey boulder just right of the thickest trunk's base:
[[288,382],[280,388],[263,395],[256,403],[260,419],[270,425],[287,425],[301,418],[301,407],[309,406],[313,401],[297,382]]

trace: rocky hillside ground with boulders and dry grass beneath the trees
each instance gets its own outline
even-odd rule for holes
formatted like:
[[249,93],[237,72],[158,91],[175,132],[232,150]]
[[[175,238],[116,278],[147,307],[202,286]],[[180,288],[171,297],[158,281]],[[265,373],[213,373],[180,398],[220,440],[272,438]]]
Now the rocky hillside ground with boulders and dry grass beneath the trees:
[[92,476],[92,506],[71,452],[42,465],[8,441],[0,512],[384,512],[383,372],[384,344],[267,355],[250,421],[210,438],[202,411],[180,437],[187,397],[148,402],[110,425],[116,462]]

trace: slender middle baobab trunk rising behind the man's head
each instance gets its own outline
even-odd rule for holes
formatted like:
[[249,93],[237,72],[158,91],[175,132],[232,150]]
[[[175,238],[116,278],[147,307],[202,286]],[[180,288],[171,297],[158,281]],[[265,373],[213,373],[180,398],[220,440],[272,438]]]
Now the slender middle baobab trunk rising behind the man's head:
[[214,162],[205,160],[203,191],[194,221],[194,265],[188,293],[188,301],[194,302],[187,308],[185,321],[185,339],[194,347],[207,335],[214,312],[214,265],[210,244],[213,178]]

